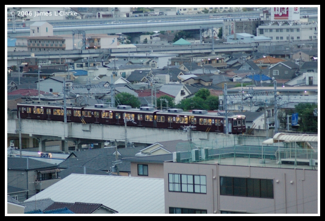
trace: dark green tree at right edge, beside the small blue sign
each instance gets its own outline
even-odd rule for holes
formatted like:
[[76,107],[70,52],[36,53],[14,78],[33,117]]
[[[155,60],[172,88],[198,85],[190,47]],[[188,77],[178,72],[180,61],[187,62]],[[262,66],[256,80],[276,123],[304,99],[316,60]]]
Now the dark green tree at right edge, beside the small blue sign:
[[314,116],[314,108],[317,108],[315,103],[299,103],[295,106],[300,117],[299,131],[318,132],[318,119]]

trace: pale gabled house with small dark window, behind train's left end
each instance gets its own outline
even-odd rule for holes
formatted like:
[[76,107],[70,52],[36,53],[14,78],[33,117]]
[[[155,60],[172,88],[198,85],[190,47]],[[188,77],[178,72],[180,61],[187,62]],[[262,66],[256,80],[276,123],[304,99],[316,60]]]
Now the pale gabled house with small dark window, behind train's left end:
[[[64,79],[62,77],[49,77],[39,81],[39,89],[49,93],[63,93]],[[71,87],[72,80],[65,79],[65,87]]]

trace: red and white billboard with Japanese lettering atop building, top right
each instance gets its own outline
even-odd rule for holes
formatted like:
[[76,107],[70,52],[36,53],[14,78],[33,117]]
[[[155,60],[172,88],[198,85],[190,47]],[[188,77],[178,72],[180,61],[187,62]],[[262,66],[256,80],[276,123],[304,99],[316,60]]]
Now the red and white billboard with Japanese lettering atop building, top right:
[[292,21],[300,20],[299,7],[274,7],[271,9],[271,20],[273,21]]

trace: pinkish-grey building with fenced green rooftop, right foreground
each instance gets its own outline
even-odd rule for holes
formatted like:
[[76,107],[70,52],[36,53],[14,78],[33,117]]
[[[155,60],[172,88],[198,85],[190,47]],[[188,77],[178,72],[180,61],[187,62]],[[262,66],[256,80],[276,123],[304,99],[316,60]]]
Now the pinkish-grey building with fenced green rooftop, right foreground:
[[[264,142],[235,137],[176,146],[174,162],[163,163],[165,213],[317,214],[317,136],[308,139],[276,134]],[[312,148],[304,146],[311,140]]]

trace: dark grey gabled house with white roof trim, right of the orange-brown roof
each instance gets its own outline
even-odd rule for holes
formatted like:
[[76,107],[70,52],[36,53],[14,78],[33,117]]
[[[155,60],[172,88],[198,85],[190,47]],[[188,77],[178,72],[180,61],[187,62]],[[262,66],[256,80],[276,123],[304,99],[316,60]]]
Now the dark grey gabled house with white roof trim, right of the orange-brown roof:
[[293,62],[279,62],[269,67],[269,77],[277,79],[293,79],[298,76],[299,65]]

